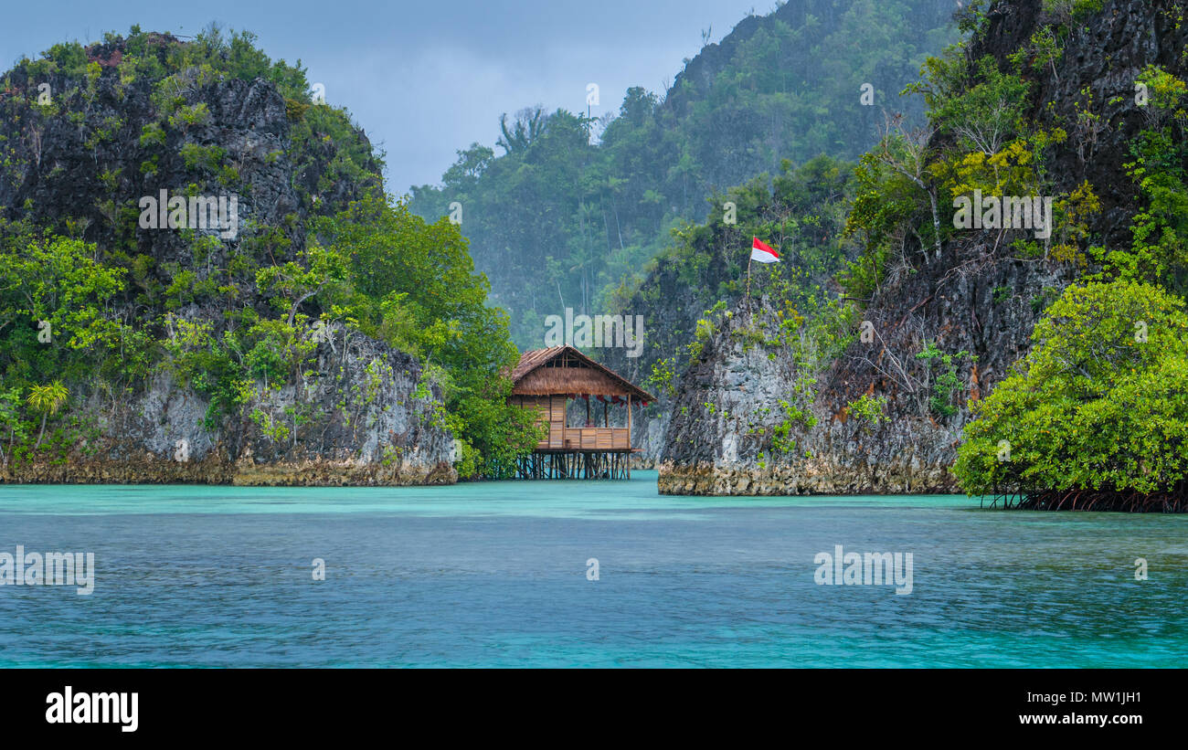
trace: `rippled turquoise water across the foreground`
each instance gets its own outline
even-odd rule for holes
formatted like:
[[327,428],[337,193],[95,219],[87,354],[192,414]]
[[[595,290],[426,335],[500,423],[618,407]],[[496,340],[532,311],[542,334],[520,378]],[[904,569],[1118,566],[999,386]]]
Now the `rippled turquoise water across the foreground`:
[[[96,566],[90,596],[0,586],[0,666],[1188,663],[1188,517],[662,497],[655,472],[632,476],[0,487],[0,553]],[[814,557],[834,545],[912,553],[912,592],[817,585]]]

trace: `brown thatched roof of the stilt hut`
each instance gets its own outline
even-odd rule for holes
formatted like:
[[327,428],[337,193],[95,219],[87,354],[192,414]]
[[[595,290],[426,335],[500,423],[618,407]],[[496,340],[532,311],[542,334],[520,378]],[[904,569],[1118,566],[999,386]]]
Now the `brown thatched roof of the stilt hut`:
[[520,355],[512,370],[513,395],[546,396],[577,394],[626,396],[647,403],[656,396],[632,384],[614,370],[590,360],[573,347],[533,349]]

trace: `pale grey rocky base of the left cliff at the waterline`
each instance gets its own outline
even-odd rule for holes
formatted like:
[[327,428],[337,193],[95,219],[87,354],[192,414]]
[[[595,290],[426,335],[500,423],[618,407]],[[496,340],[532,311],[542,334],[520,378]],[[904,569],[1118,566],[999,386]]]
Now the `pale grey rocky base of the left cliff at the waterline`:
[[[441,390],[407,352],[341,326],[297,382],[208,426],[209,401],[168,369],[131,398],[76,384],[78,425],[0,468],[0,483],[400,487],[453,484]],[[295,415],[301,415],[299,418]],[[46,434],[49,444],[49,433]]]

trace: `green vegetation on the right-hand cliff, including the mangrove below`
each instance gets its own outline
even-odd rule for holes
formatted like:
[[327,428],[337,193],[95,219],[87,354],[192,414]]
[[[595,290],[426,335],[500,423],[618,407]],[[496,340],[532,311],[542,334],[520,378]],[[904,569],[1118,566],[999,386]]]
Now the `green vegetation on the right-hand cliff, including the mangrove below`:
[[[971,38],[985,30],[984,8],[972,2],[961,13]],[[927,61],[908,90],[923,96],[928,127],[889,121],[854,169],[842,237],[861,250],[841,253],[840,281],[851,299],[868,303],[939,259],[954,234],[949,205],[959,196],[1054,196],[1050,239],[992,240],[985,254],[1064,266],[1079,281],[1063,294],[1043,287],[1031,297],[1032,312],[1042,313],[1034,348],[992,394],[971,403],[974,419],[954,471],[968,492],[1018,497],[1025,507],[1183,509],[1188,84],[1158,66],[1136,81],[1148,101],[1139,102],[1144,122],[1130,144],[1132,160],[1121,165],[1142,199],[1129,246],[1102,247],[1094,234],[1102,206],[1089,180],[1055,190],[1056,151],[1087,166],[1113,127],[1092,90],[1080,90],[1064,121],[1051,106],[1034,119],[1025,114],[1035,110],[1037,82],[1059,82],[1072,24],[1101,8],[1098,0],[1045,0],[1041,24],[1003,63],[971,59],[968,40]],[[991,298],[1003,305],[1012,288],[996,287]],[[929,411],[955,415],[966,384],[960,369],[977,357],[925,338],[916,360]],[[885,396],[867,394],[847,411],[868,428],[887,406]]]

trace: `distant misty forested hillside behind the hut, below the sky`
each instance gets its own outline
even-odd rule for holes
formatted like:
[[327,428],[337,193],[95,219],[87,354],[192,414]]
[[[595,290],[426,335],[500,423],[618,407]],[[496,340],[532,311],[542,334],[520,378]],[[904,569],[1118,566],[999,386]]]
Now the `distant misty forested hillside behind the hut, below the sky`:
[[[460,151],[441,186],[412,189],[410,208],[436,220],[462,204],[493,301],[520,347],[539,347],[545,316],[617,307],[674,244],[671,230],[706,220],[706,199],[718,221],[726,186],[784,159],[855,158],[884,109],[918,117],[896,82],[953,40],[949,14],[920,0],[789,4],[751,19],[741,43],[704,47],[663,97],[630,89],[609,122],[541,108],[505,116],[503,153]],[[873,106],[861,103],[865,83]]]

